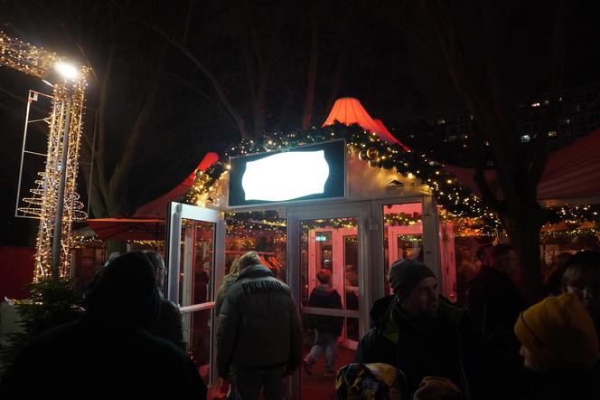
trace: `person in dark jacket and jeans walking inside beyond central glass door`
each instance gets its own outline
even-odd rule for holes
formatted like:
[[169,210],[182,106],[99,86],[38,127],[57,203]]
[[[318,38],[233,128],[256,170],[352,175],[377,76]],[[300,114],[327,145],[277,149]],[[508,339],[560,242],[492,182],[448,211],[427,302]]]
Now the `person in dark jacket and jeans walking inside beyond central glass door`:
[[[342,309],[342,298],[337,290],[332,289],[332,271],[321,270],[316,275],[319,285],[316,286],[308,299],[308,306],[319,309]],[[313,366],[319,357],[325,353],[324,376],[335,376],[335,354],[337,352],[337,340],[342,334],[342,317],[331,317],[326,315],[311,315],[314,327],[314,344],[311,351],[306,355],[304,367],[307,374],[313,373]]]

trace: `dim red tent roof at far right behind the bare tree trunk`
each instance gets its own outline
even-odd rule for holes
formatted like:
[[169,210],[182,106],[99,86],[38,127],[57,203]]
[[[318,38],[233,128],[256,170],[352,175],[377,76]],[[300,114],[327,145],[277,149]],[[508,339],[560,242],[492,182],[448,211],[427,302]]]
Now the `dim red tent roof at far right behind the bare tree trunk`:
[[[480,195],[472,168],[445,166],[445,169],[469,186],[474,194]],[[500,194],[496,172],[485,171],[485,178],[492,191]],[[538,186],[538,199],[548,206],[600,203],[600,129],[548,156]]]

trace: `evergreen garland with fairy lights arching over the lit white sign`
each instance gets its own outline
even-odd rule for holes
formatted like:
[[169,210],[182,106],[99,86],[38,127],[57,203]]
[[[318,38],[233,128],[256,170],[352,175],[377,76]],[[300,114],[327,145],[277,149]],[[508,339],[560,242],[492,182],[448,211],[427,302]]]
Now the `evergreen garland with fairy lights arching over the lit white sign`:
[[[349,153],[352,150],[358,153],[359,159],[365,161],[370,167],[396,169],[399,174],[418,178],[433,195],[437,204],[441,205],[440,216],[445,220],[469,220],[470,231],[465,235],[473,235],[474,229],[479,229],[482,235],[493,235],[502,226],[500,217],[487,205],[483,205],[480,197],[473,195],[471,190],[461,184],[455,176],[444,169],[444,165],[428,159],[412,151],[405,151],[398,144],[389,144],[381,140],[377,134],[366,131],[358,125],[335,125],[324,128],[312,128],[296,131],[290,134],[276,132],[261,139],[253,140],[243,138],[239,145],[229,148],[225,152],[225,159],[229,157],[244,156],[271,151],[286,151],[298,146],[314,144],[344,138]],[[214,201],[211,195],[215,187],[225,178],[229,165],[217,161],[205,172],[198,171],[198,181],[192,189],[184,195],[182,201],[194,205],[207,205]],[[586,219],[600,222],[600,206],[562,206],[548,210],[548,221],[562,218]],[[416,221],[415,221],[416,222]],[[402,224],[398,221],[399,224]]]

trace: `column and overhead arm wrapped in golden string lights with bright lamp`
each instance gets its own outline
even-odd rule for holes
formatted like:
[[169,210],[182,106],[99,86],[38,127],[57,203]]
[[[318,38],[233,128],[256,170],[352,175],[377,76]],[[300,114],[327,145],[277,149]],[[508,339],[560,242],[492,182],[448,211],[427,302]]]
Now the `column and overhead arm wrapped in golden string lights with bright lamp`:
[[20,208],[40,218],[34,281],[52,276],[70,276],[71,226],[85,220],[76,192],[79,170],[80,133],[87,67],[78,68],[56,53],[0,32],[0,65],[41,78],[53,88],[52,114],[45,169],[38,173],[33,197],[23,199],[34,205]]

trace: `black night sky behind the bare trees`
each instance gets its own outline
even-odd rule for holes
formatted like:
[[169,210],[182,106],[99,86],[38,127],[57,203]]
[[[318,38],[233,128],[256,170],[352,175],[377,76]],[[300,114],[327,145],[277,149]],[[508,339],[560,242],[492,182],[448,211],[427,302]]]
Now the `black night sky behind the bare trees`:
[[[193,3],[193,2],[192,2]],[[274,4],[277,3],[277,7]],[[267,60],[271,34],[278,32],[273,52],[265,102],[266,131],[295,129],[301,123],[305,103],[306,68],[310,49],[310,7],[304,2],[252,2],[252,21]],[[319,4],[319,45],[314,124],[328,113],[328,100],[335,81],[339,55],[344,56],[342,81],[337,97],[358,97],[373,117],[389,128],[409,120],[464,108],[440,60],[436,32],[415,2],[342,2]],[[565,86],[597,82],[598,34],[593,2],[573,2],[567,18]],[[110,77],[110,95],[105,103],[106,134],[115,151],[107,155],[108,171],[120,157],[118,148],[127,143],[140,105],[147,98],[154,71],[160,70],[159,100],[146,121],[142,146],[161,151],[145,159],[136,169],[129,200],[132,207],[144,204],[175,186],[199,162],[205,151],[222,151],[239,136],[223,117],[215,92],[205,76],[145,25],[153,24],[184,35],[188,2],[148,2],[123,10],[126,2],[0,0],[0,29],[55,52],[82,56],[92,64],[96,76],[90,81],[88,105],[98,109],[103,73],[111,43],[115,44],[115,64]],[[198,2],[192,10],[188,44],[213,71],[225,92],[248,125],[253,110],[249,101],[248,69],[244,67],[244,40],[248,26],[236,11],[237,2]],[[521,71],[515,74],[515,88],[535,86],[548,49],[537,43],[548,38],[551,13],[546,2],[505,2],[505,43],[511,43],[503,66]],[[472,3],[464,2],[464,5]],[[525,6],[527,5],[527,6]],[[465,6],[466,7],[466,6]],[[534,15],[533,17],[531,15]],[[528,19],[529,18],[529,19]],[[479,21],[465,8],[460,10],[461,33],[471,57],[476,57]],[[280,25],[278,25],[279,23]],[[118,28],[116,28],[116,26]],[[277,30],[276,26],[279,26]],[[118,30],[118,40],[111,32]],[[344,47],[345,46],[345,47]],[[275,48],[274,47],[274,48]],[[81,52],[83,50],[83,53]],[[255,49],[256,50],[256,49]],[[542,85],[543,88],[543,85]],[[25,98],[29,89],[45,89],[39,81],[15,71],[0,68],[0,168],[3,200],[0,244],[32,244],[34,229],[17,221],[14,212],[15,187],[23,134]],[[513,90],[515,100],[526,96]],[[171,139],[169,139],[171,138]],[[402,138],[400,138],[402,139]],[[161,141],[161,140],[164,140]],[[147,150],[140,148],[140,151]],[[148,150],[149,151],[149,150]],[[175,163],[176,161],[176,163]],[[167,168],[175,163],[173,168]],[[173,164],[174,165],[174,164]],[[168,171],[165,171],[167,170]],[[160,182],[153,181],[161,172]],[[141,190],[152,186],[152,189]],[[82,190],[80,190],[82,191]],[[142,194],[143,193],[143,194]],[[15,239],[17,238],[17,239]]]

